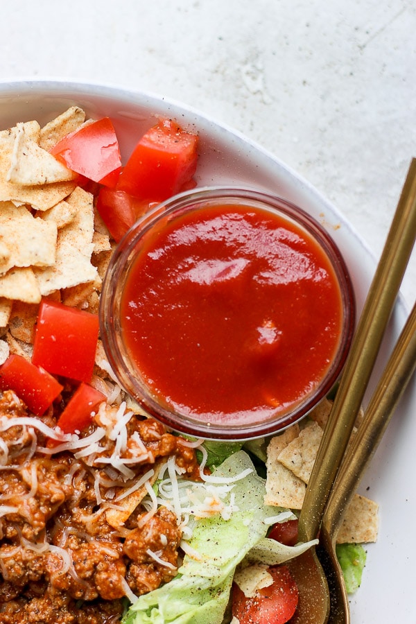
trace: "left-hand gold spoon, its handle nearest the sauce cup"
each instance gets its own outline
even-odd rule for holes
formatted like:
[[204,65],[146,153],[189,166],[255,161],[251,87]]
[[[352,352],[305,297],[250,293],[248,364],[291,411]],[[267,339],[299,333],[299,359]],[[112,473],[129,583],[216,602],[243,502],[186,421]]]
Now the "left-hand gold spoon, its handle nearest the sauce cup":
[[[416,159],[413,158],[306,488],[299,519],[301,541],[309,541],[318,535],[324,507],[361,407],[415,237]],[[299,608],[294,621],[298,624],[327,622],[329,589],[315,548],[296,557],[291,562],[291,569],[300,587]],[[309,582],[313,584],[314,596],[308,592]],[[304,587],[305,594],[302,593]],[[306,604],[309,599],[311,604]]]

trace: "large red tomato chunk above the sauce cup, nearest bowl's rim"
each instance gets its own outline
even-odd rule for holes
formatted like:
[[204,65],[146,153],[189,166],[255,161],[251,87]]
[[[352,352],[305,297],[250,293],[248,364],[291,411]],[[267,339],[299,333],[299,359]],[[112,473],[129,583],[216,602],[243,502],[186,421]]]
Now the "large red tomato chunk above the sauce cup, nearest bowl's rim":
[[125,164],[117,189],[135,197],[162,201],[178,193],[196,171],[198,136],[170,119],[141,137]]

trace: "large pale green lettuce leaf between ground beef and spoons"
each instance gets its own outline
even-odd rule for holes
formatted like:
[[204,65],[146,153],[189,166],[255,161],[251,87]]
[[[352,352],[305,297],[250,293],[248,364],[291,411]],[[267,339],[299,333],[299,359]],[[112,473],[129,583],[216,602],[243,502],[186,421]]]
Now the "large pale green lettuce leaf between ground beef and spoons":
[[221,624],[234,571],[245,557],[279,564],[316,543],[291,547],[266,537],[267,519],[277,510],[264,505],[265,482],[245,451],[229,456],[213,474],[238,477],[247,469],[251,473],[236,480],[228,494],[234,499],[230,519],[216,515],[199,520],[189,540],[192,557],[185,555],[171,582],[140,596],[123,624]]

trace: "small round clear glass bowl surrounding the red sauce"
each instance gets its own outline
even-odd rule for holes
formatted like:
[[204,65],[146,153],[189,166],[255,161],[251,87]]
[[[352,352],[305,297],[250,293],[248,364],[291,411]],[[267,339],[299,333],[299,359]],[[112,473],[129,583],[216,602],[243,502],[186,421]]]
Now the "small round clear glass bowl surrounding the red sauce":
[[[261,209],[269,214],[279,214],[300,227],[306,237],[313,238],[324,251],[338,280],[343,322],[338,347],[322,379],[313,390],[293,404],[284,413],[256,417],[250,422],[239,419],[232,422],[207,421],[198,414],[181,413],[176,407],[157,395],[146,383],[139,366],[123,335],[121,301],[126,281],[135,259],[149,237],[161,232],[167,223],[189,211],[218,206],[242,206]],[[168,428],[191,436],[211,440],[248,440],[271,435],[307,415],[325,397],[338,380],[352,341],[355,325],[355,300],[352,281],[345,261],[336,244],[326,230],[299,207],[262,191],[236,189],[232,187],[207,187],[181,193],[140,218],[117,246],[107,269],[101,293],[100,306],[101,338],[110,366],[121,387],[128,392],[148,415],[162,422]]]

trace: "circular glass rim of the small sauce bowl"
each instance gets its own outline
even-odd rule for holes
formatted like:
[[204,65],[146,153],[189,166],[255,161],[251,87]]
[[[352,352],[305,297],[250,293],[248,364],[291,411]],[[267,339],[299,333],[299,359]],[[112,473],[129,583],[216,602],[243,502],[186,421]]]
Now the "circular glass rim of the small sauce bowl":
[[[187,417],[177,413],[174,410],[168,410],[161,406],[144,384],[139,384],[137,376],[132,373],[125,357],[121,352],[119,343],[121,340],[120,324],[117,318],[114,318],[114,305],[116,297],[119,296],[119,285],[121,284],[121,275],[128,266],[128,252],[131,252],[139,240],[152,227],[157,225],[162,218],[174,217],[178,212],[187,208],[195,207],[203,204],[203,202],[218,202],[227,200],[231,202],[240,202],[241,205],[261,204],[262,207],[272,211],[278,211],[284,217],[294,220],[298,226],[306,229],[310,236],[320,245],[327,255],[333,271],[335,272],[338,286],[340,288],[342,306],[343,306],[343,328],[340,336],[340,342],[336,354],[334,355],[331,366],[327,370],[317,388],[307,395],[306,399],[301,402],[295,409],[280,415],[277,419],[268,419],[263,422],[257,422],[253,426],[236,425],[236,426],[220,426],[218,424],[207,424],[198,422],[194,418]],[[115,286],[114,286],[115,284]],[[275,193],[262,191],[261,189],[252,189],[242,186],[205,186],[184,191],[168,198],[164,202],[159,202],[155,207],[150,209],[144,216],[133,225],[123,236],[110,259],[105,277],[103,279],[101,302],[99,310],[100,333],[105,354],[110,363],[110,367],[121,385],[123,390],[137,401],[139,406],[144,409],[145,413],[150,417],[154,417],[162,422],[169,429],[181,433],[208,440],[250,440],[258,437],[264,437],[283,431],[285,428],[300,421],[304,418],[333,388],[338,380],[343,365],[347,358],[347,352],[352,342],[356,320],[356,306],[354,288],[352,279],[349,275],[347,264],[343,259],[338,245],[336,245],[329,232],[321,225],[318,220],[311,216],[307,211],[284,199]]]

